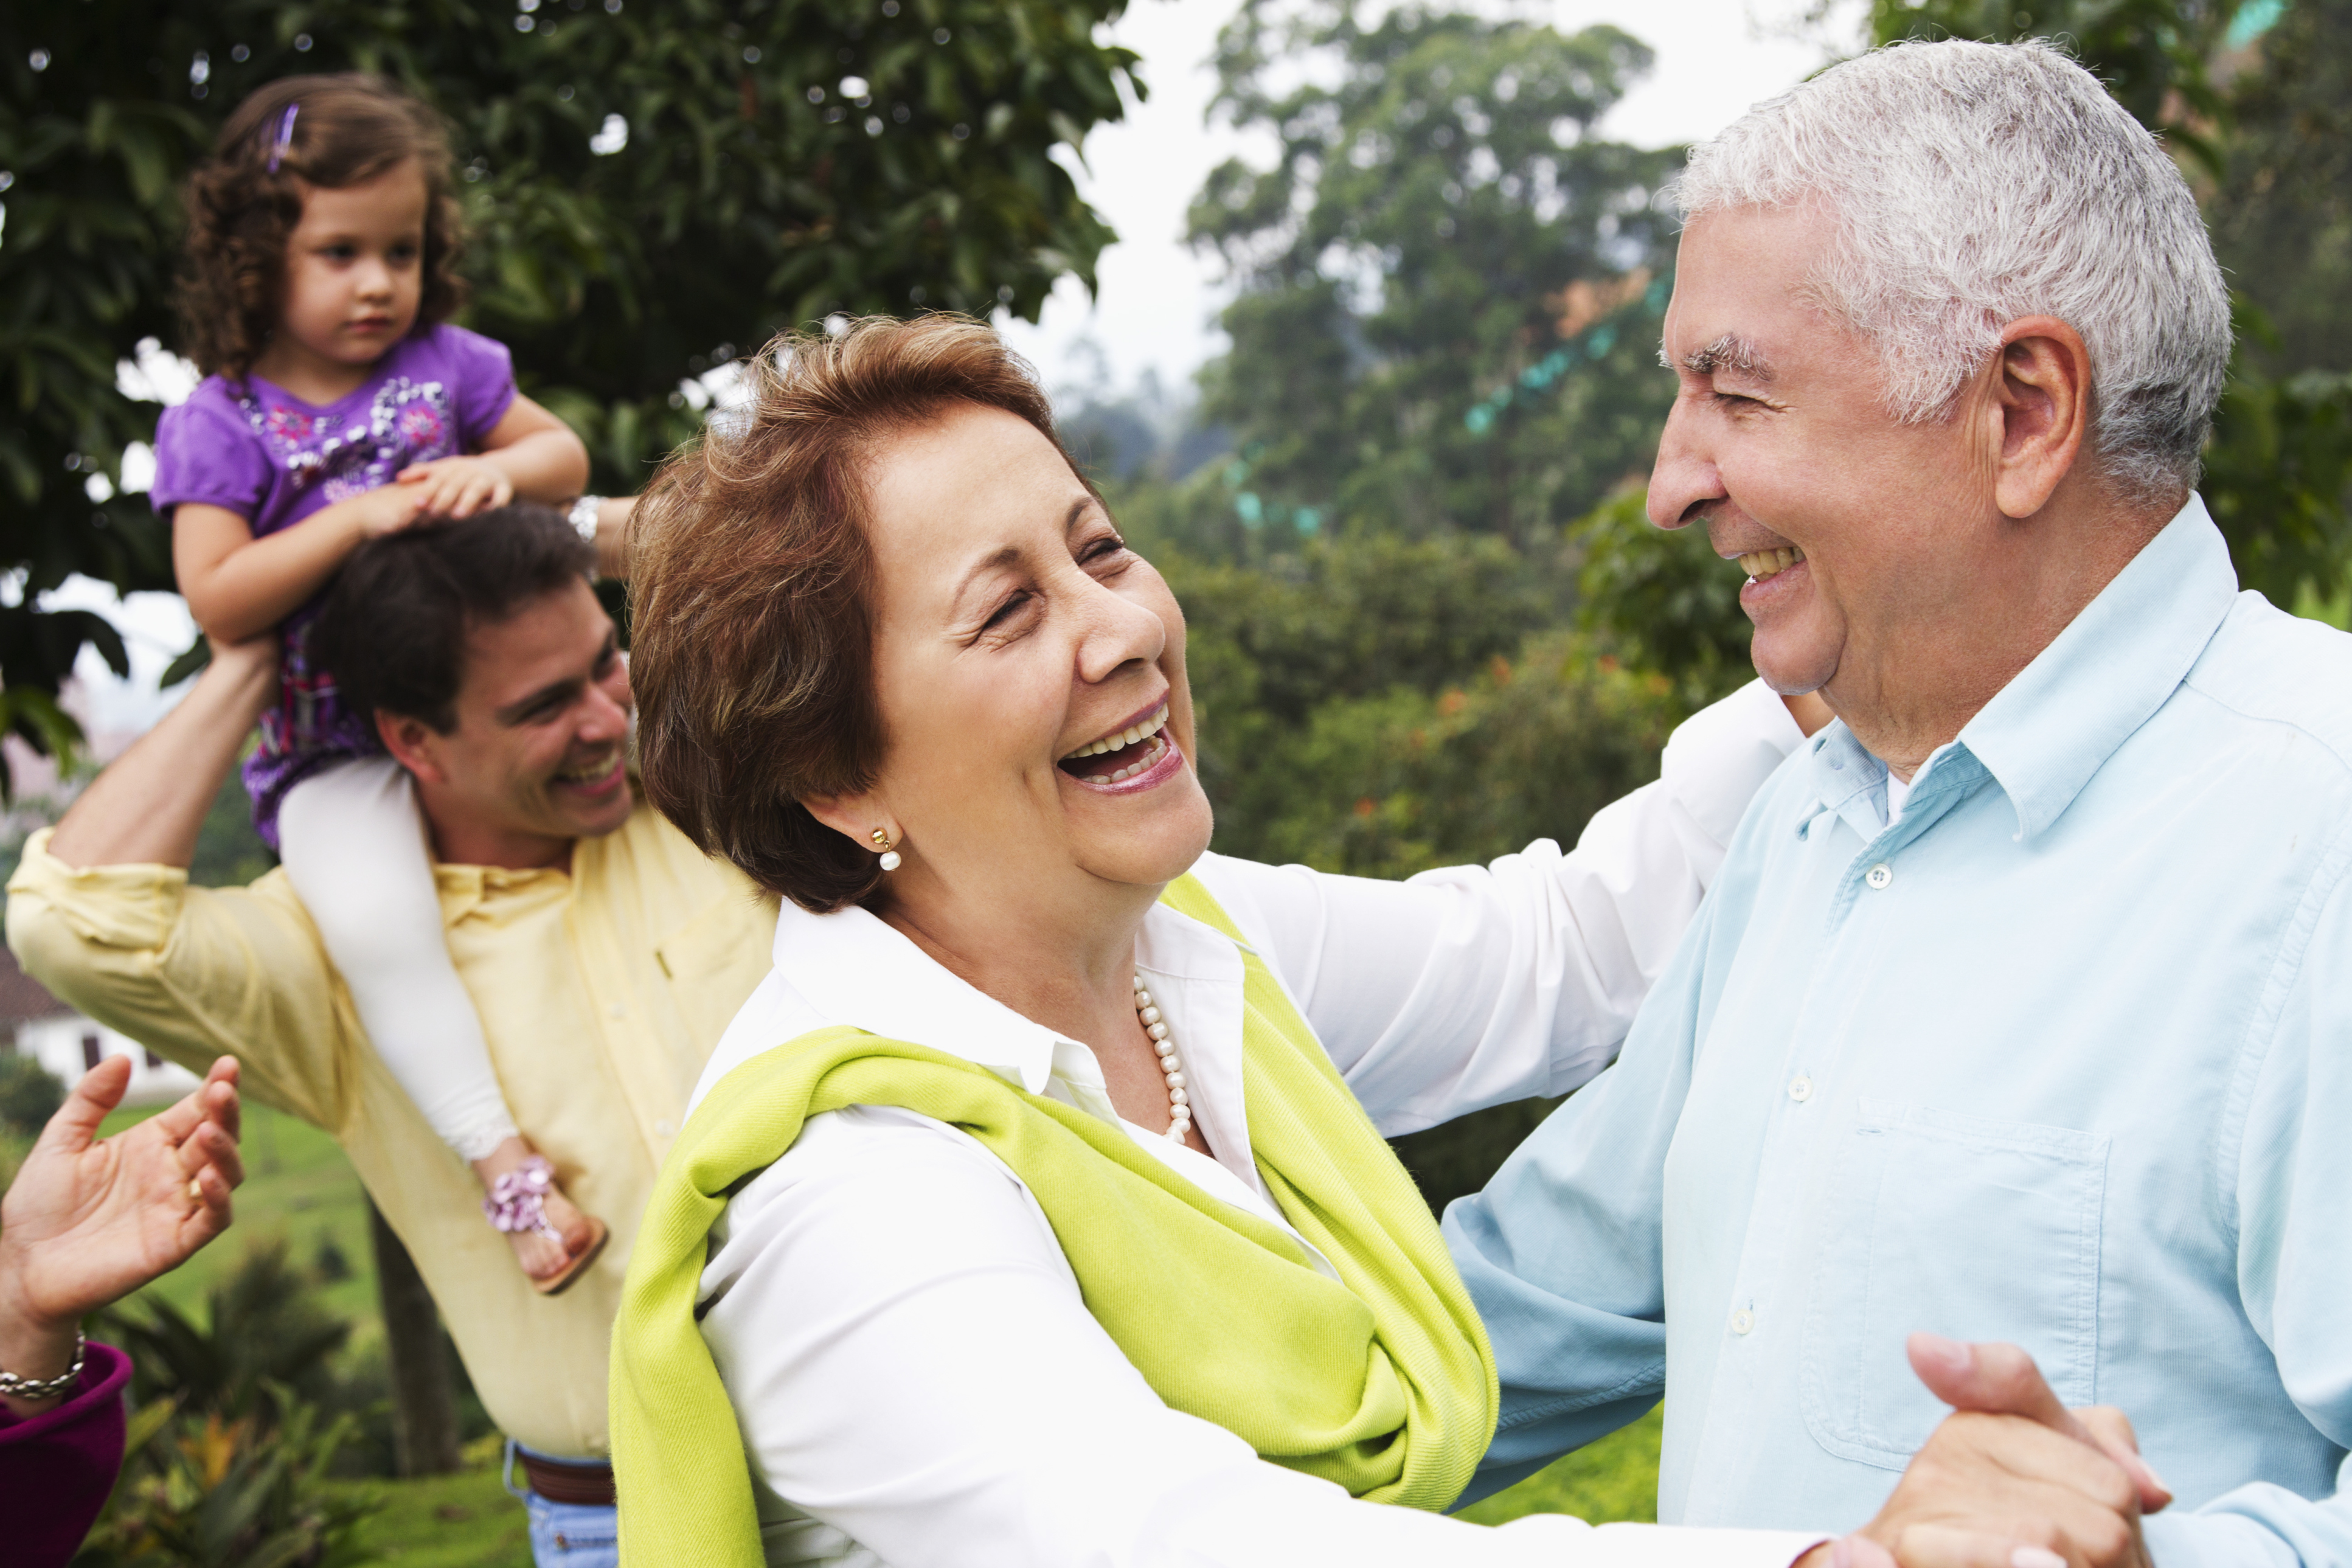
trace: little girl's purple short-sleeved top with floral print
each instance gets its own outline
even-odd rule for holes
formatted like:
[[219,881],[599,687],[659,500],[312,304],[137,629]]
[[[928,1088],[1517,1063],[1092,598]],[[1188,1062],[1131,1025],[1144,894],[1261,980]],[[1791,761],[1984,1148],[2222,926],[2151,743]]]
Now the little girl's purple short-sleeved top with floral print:
[[[409,463],[480,451],[513,402],[506,346],[463,327],[402,339],[355,393],[327,407],[261,376],[247,376],[245,390],[205,376],[155,428],[148,498],[165,517],[183,501],[228,508],[261,538],[390,484]],[[245,759],[254,827],[270,849],[287,790],[329,762],[379,750],[374,726],[341,703],[334,677],[310,658],[315,618],[318,599],[278,628],[278,705],[261,715],[261,745]]]

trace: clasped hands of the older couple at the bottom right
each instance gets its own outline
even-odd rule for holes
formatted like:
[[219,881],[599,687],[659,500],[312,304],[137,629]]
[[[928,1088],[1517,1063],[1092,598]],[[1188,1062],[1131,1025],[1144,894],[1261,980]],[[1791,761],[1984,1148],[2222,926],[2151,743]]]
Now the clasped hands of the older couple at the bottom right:
[[2140,1514],[2171,1493],[2117,1410],[2067,1410],[2016,1345],[1912,1335],[1912,1371],[1955,1413],[1877,1519],[1802,1568],[2147,1568]]

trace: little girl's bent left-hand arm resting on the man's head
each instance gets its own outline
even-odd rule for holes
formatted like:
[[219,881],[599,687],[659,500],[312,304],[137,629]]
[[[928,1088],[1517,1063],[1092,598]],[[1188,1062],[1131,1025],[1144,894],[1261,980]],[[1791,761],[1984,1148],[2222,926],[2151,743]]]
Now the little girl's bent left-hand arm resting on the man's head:
[[172,571],[207,637],[245,642],[301,609],[362,543],[423,517],[423,501],[416,484],[383,484],[268,538],[254,538],[226,505],[181,501],[172,508]]

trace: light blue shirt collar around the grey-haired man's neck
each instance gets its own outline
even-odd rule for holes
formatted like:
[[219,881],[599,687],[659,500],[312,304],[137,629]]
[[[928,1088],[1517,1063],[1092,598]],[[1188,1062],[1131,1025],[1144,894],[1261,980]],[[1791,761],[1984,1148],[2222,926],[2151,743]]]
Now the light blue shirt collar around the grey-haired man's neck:
[[[2237,602],[2230,545],[2190,496],[2091,604],[2025,665],[1959,738],[1912,778],[1905,823],[1990,776],[2018,813],[2018,837],[2056,823],[2114,750],[2171,698]],[[1886,827],[1886,764],[1853,731],[1813,736],[1820,811],[1865,839]],[[1811,823],[1799,825],[1799,832]]]

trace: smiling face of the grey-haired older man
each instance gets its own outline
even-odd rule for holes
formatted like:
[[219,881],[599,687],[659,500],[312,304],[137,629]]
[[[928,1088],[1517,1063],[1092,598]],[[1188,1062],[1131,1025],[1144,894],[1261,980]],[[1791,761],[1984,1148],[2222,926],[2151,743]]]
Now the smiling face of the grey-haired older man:
[[[1773,691],[1884,701],[1893,668],[1962,635],[1992,473],[1952,421],[1903,425],[1877,348],[1806,299],[1835,237],[1820,209],[1733,209],[1682,235],[1665,360],[1679,386],[1649,517],[1703,522],[1750,583],[1755,665]],[[1726,567],[1729,571],[1731,567]],[[1955,614],[1959,611],[1959,614]]]

